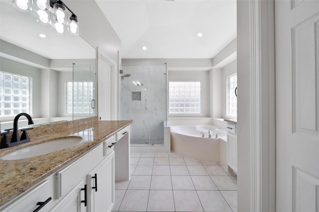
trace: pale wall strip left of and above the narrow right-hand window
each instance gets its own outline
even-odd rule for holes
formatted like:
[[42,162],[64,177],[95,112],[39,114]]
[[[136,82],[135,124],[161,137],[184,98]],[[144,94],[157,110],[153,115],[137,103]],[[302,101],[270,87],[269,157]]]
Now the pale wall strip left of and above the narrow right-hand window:
[[[222,78],[221,78],[221,93],[222,93],[222,98],[221,98],[221,108],[222,108],[222,112],[221,112],[221,117],[222,118],[226,118],[225,114],[227,114],[227,76],[232,75],[234,73],[237,73],[237,60],[230,63],[229,65],[225,66],[224,68],[222,68]],[[221,117],[214,117],[214,118],[221,118]]]

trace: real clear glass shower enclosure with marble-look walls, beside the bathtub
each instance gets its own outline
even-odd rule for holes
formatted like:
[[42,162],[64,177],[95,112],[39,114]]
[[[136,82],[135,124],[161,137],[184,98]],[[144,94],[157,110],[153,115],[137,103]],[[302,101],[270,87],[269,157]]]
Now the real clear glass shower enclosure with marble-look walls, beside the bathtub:
[[122,120],[133,120],[131,144],[164,145],[166,65],[122,69]]

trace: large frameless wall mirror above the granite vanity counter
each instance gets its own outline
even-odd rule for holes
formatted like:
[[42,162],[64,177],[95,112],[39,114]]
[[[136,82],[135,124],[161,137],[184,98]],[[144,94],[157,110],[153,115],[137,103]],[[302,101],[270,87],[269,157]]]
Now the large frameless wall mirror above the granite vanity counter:
[[38,124],[95,116],[95,66],[95,48],[83,38],[58,35],[32,12],[0,1],[1,130],[18,112]]

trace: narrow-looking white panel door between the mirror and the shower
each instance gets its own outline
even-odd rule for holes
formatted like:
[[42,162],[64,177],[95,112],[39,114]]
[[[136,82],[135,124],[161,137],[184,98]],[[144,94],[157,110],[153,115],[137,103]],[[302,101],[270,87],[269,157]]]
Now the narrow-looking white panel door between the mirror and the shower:
[[103,55],[98,60],[98,113],[101,120],[111,120],[111,65]]

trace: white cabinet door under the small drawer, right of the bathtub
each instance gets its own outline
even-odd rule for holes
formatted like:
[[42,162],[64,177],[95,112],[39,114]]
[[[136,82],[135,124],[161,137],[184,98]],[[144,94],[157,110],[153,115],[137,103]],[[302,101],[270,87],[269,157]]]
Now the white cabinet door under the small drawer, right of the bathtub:
[[227,133],[227,165],[237,173],[237,136]]

